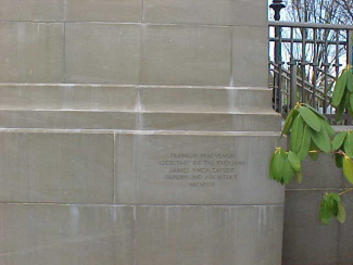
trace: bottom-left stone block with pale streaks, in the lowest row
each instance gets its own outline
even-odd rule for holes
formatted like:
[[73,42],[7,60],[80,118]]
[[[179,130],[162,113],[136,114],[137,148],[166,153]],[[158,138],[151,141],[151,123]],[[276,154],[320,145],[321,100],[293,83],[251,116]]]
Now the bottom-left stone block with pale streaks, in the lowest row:
[[133,265],[128,206],[1,204],[2,265]]

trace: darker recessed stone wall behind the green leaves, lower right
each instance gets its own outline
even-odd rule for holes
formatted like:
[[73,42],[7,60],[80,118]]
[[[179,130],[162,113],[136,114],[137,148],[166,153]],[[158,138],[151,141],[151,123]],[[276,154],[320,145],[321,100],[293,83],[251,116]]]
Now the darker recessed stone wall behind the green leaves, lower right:
[[[342,129],[352,129],[341,127]],[[345,223],[332,219],[324,226],[318,210],[325,192],[341,192],[351,185],[331,155],[320,155],[315,162],[303,162],[303,184],[286,190],[283,265],[350,265],[353,264],[353,194],[342,197]]]

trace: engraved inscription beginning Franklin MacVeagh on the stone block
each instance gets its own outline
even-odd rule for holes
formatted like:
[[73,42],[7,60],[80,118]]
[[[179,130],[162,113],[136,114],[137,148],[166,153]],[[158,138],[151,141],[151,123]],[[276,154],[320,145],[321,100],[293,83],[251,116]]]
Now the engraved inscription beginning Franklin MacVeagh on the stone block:
[[182,181],[189,187],[216,187],[220,181],[237,179],[237,167],[245,165],[236,154],[226,153],[171,153],[159,160],[164,179]]

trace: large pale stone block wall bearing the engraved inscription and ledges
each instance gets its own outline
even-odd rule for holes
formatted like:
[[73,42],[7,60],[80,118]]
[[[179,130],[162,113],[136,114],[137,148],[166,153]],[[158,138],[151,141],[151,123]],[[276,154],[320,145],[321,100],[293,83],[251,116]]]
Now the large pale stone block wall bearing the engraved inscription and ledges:
[[1,265],[279,265],[267,1],[2,0]]

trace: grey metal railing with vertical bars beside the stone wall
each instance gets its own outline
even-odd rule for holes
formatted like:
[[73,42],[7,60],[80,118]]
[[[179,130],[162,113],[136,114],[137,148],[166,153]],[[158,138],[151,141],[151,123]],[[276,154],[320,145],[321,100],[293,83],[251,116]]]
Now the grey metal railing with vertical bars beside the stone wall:
[[332,85],[352,63],[353,26],[269,22],[269,87],[286,115],[300,101],[331,118]]

